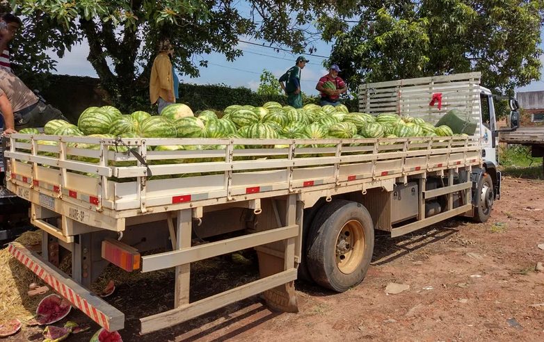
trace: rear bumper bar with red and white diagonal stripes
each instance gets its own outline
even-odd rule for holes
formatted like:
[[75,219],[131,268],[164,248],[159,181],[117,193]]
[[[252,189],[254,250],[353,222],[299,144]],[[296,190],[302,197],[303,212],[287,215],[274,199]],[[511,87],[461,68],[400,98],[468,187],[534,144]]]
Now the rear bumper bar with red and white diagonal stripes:
[[26,268],[54,288],[59,295],[72,303],[73,307],[81,310],[104,329],[113,332],[125,327],[125,314],[74,282],[51,263],[42,260],[35,252],[28,250],[20,243],[10,243],[8,251]]

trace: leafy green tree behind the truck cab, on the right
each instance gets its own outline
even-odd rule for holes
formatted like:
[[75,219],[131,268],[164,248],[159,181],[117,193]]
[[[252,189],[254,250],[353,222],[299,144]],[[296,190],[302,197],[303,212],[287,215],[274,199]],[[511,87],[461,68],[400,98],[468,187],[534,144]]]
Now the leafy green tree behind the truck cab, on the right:
[[[352,1],[321,17],[354,90],[362,82],[479,71],[503,94],[541,77],[538,47],[544,3],[538,0]],[[354,19],[356,18],[356,19]]]

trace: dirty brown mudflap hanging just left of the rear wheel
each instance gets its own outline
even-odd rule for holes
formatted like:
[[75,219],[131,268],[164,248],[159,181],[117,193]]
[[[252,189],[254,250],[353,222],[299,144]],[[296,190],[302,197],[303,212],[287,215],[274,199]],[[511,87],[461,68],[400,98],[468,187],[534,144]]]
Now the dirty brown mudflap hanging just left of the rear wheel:
[[[284,270],[285,262],[280,255],[272,255],[257,249],[257,257],[259,258],[259,275],[261,278]],[[264,291],[262,296],[266,304],[275,311],[298,312],[294,280]]]

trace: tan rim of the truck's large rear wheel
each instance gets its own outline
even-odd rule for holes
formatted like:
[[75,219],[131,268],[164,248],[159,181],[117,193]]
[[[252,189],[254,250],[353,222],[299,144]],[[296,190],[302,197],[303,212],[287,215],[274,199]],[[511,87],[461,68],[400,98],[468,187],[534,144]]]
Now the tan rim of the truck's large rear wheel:
[[336,239],[336,264],[340,272],[353,273],[360,266],[364,252],[365,230],[361,222],[346,222]]

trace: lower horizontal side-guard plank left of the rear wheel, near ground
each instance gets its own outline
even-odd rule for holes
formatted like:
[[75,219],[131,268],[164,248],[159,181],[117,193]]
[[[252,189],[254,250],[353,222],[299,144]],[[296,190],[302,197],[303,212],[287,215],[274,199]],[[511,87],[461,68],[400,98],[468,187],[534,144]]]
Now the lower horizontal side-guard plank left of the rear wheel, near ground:
[[244,298],[257,295],[276,286],[286,284],[296,279],[296,268],[291,268],[275,275],[271,275],[266,278],[258,279],[255,282],[244,284],[237,288],[212,295],[209,298],[193,302],[191,304],[177,307],[176,309],[162,312],[161,314],[155,314],[140,319],[141,322],[141,334],[148,334],[155,332],[166,327],[172,327],[179,323],[183,323],[186,320],[195,318],[197,316],[207,314],[221,307],[225,307],[228,304],[232,304]]

